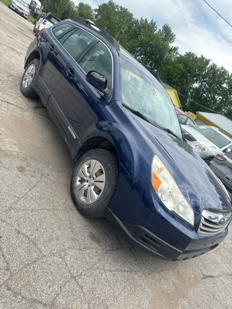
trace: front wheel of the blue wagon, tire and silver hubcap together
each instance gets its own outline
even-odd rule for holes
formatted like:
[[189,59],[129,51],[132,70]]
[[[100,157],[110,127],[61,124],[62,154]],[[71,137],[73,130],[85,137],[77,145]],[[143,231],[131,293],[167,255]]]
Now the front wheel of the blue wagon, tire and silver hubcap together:
[[71,177],[71,196],[85,216],[104,217],[118,184],[118,158],[103,149],[87,151],[77,161]]

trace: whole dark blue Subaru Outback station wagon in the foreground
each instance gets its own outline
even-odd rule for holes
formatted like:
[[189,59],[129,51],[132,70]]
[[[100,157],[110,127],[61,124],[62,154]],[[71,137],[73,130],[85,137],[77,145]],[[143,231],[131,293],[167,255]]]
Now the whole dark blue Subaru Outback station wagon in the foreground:
[[76,17],[30,44],[22,93],[40,96],[77,161],[79,212],[105,216],[133,246],[185,260],[217,247],[230,198],[185,141],[159,77],[107,32]]

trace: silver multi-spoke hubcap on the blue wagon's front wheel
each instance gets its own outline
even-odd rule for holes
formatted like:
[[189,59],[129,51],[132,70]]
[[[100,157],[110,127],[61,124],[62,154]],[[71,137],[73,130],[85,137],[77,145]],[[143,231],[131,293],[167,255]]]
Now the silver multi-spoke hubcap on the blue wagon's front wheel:
[[76,171],[75,195],[84,204],[92,204],[101,196],[105,187],[105,170],[102,164],[88,160]]

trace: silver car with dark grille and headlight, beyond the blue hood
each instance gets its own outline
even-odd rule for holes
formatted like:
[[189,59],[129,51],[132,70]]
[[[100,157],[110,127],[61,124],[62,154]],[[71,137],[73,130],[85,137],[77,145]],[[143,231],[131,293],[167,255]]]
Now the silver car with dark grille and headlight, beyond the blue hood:
[[226,153],[227,148],[232,150],[232,139],[210,125],[182,125],[182,131],[186,141],[206,163],[215,155]]

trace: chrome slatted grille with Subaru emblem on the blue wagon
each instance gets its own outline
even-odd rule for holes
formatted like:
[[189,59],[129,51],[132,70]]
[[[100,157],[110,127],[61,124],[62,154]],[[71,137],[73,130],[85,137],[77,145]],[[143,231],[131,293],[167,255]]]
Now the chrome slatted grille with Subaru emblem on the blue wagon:
[[[219,224],[218,221],[222,217],[222,214],[222,212],[203,210],[197,232],[204,235],[216,235],[221,233],[223,230],[226,229],[231,220],[231,212],[227,212],[223,215],[223,217],[226,218],[225,223]],[[218,220],[216,220],[217,218]]]

